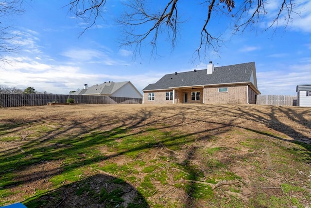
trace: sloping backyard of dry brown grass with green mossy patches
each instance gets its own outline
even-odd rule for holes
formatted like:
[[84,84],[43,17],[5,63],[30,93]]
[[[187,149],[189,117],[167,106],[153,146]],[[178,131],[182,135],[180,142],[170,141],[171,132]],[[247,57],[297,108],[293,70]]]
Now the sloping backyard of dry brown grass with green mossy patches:
[[310,206],[311,109],[2,108],[0,193],[51,208]]

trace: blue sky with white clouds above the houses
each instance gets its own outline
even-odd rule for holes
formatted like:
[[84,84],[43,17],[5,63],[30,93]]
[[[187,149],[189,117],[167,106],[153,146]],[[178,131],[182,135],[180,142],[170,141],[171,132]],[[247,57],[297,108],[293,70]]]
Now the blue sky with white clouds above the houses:
[[[262,95],[296,95],[297,84],[311,84],[311,2],[297,0],[293,22],[276,30],[264,31],[277,11],[277,1],[266,7],[266,21],[255,30],[231,36],[229,21],[215,16],[209,30],[222,34],[218,53],[193,60],[199,45],[200,30],[206,16],[199,0],[180,1],[176,47],[166,38],[158,40],[158,55],[151,56],[151,45],[144,43],[140,56],[133,59],[133,47],[121,47],[121,26],[115,23],[124,0],[107,0],[105,20],[87,30],[86,24],[68,12],[66,0],[35,0],[24,4],[25,13],[10,19],[11,33],[17,36],[17,53],[2,54],[14,60],[1,63],[0,85],[24,90],[69,94],[69,91],[101,84],[104,81],[131,81],[139,91],[165,74],[205,69],[209,61],[225,66],[255,61],[258,88]],[[68,0],[69,2],[69,0]],[[159,1],[161,2],[161,1]],[[162,1],[164,2],[164,1]],[[238,5],[239,0],[236,1]],[[189,12],[191,11],[191,12]],[[193,12],[194,11],[194,12]]]

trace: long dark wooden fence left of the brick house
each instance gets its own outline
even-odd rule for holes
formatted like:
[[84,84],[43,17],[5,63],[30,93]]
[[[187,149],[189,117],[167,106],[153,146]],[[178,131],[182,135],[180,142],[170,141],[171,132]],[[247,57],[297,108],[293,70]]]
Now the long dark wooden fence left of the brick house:
[[48,102],[66,103],[68,98],[78,104],[139,104],[141,98],[96,95],[0,94],[0,107],[40,106]]

